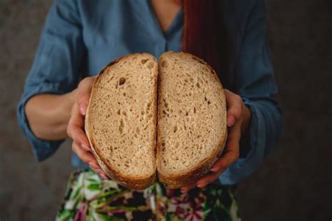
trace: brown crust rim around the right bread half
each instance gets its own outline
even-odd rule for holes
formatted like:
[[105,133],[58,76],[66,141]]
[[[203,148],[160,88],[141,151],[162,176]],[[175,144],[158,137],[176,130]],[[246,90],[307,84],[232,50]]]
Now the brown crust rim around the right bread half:
[[[162,60],[163,56],[166,56],[168,54],[172,54],[174,52],[165,52],[160,56],[160,61]],[[216,72],[214,71],[214,69],[212,69],[211,66],[209,66],[209,64],[207,64],[206,62],[204,62],[202,59],[195,57],[191,54],[185,53],[185,52],[179,52],[179,54],[181,56],[189,56],[195,60],[197,60],[198,62],[205,64],[206,66],[208,66],[208,68],[211,70],[211,73],[214,77],[214,80],[216,80],[216,83],[219,85],[221,92],[223,93],[223,86],[221,85],[221,82],[219,80],[219,78],[216,76]],[[158,89],[160,89],[160,83],[161,80],[160,78],[158,78]],[[159,95],[159,99],[158,99],[158,106],[161,107],[161,95],[162,93],[158,93]],[[226,104],[225,101],[225,96],[223,96],[224,102],[223,104]],[[225,107],[226,108],[226,107]],[[225,111],[226,113],[226,111]],[[226,116],[225,116],[226,117]],[[157,134],[160,134],[160,129],[161,129],[161,113],[160,111],[158,111],[158,129],[157,129]],[[200,178],[202,178],[203,176],[205,176],[207,173],[209,173],[210,169],[212,168],[214,162],[216,162],[217,159],[219,159],[219,157],[221,157],[221,154],[223,152],[223,148],[225,147],[226,144],[226,138],[227,138],[227,128],[225,127],[225,136],[221,136],[220,141],[218,143],[218,148],[215,148],[213,154],[205,159],[204,162],[200,163],[198,166],[195,166],[193,169],[190,169],[186,172],[182,172],[182,173],[177,173],[177,174],[166,174],[166,173],[162,173],[160,170],[158,170],[158,166],[157,166],[157,171],[158,171],[158,179],[160,180],[160,182],[162,182],[165,186],[169,187],[170,189],[177,189],[177,188],[181,188],[187,185],[191,185],[195,182],[197,182]],[[160,147],[161,147],[161,137],[158,136],[157,139],[157,161],[158,159],[160,159]],[[157,162],[158,165],[158,162]]]

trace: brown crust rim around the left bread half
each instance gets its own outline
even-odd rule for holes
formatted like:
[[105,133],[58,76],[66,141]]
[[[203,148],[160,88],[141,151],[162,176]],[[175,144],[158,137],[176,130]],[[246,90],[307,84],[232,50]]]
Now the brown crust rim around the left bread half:
[[[90,101],[89,104],[91,104],[91,99],[92,97],[94,97],[95,94],[95,85],[98,83],[99,78],[102,77],[102,75],[104,74],[104,72],[106,71],[106,69],[108,69],[110,66],[112,66],[113,64],[116,64],[117,62],[119,62],[121,59],[125,59],[127,57],[132,57],[135,55],[148,55],[149,57],[153,57],[152,55],[149,55],[147,53],[143,53],[143,54],[131,54],[131,55],[126,55],[124,57],[120,57],[118,59],[116,59],[113,62],[110,62],[109,64],[107,64],[104,69],[102,69],[102,71],[100,71],[100,73],[98,74],[97,78],[95,79],[95,82],[93,84],[92,87],[92,91],[90,94]],[[153,57],[153,59],[155,59]],[[155,78],[158,78],[158,73],[155,76]],[[156,79],[155,79],[156,80]],[[155,94],[154,94],[154,107],[156,110],[156,100],[157,100],[157,87],[155,87]],[[117,183],[119,183],[120,185],[123,185],[124,187],[130,188],[132,190],[143,190],[146,187],[149,187],[152,183],[155,182],[156,180],[156,165],[154,164],[154,169],[155,172],[153,174],[151,174],[151,176],[148,177],[143,177],[143,178],[139,178],[139,177],[130,177],[130,176],[123,176],[120,173],[118,173],[116,170],[112,169],[111,165],[107,165],[106,163],[106,159],[104,159],[104,157],[102,156],[102,154],[99,152],[99,150],[96,148],[95,145],[95,141],[93,140],[93,137],[90,136],[90,131],[92,131],[89,122],[88,122],[88,118],[89,118],[89,113],[90,113],[90,106],[88,106],[87,109],[87,113],[85,115],[85,133],[88,136],[88,140],[90,141],[90,146],[91,146],[91,152],[92,154],[95,156],[95,158],[97,159],[97,162],[100,166],[100,168],[112,179],[115,180]],[[156,124],[156,117],[154,117],[154,124]],[[156,129],[154,129],[153,131],[154,137],[156,137]],[[153,140],[153,144],[155,144],[155,139]]]

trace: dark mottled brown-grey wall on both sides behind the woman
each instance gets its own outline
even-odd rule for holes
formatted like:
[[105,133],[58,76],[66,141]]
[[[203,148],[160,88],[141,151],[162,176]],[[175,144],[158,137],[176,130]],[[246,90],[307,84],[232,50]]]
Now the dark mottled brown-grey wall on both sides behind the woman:
[[[38,163],[15,117],[51,0],[0,1],[0,220],[54,220],[69,142]],[[269,0],[284,134],[238,185],[242,220],[332,219],[332,1]]]

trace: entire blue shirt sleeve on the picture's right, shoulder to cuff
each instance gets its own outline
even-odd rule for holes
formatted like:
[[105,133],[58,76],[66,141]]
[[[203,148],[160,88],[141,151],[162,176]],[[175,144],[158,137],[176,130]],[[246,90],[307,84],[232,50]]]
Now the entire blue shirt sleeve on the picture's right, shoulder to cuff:
[[247,25],[235,69],[235,93],[251,111],[249,131],[240,141],[240,158],[219,176],[232,185],[256,171],[282,133],[282,112],[272,71],[265,27],[265,6],[258,0]]

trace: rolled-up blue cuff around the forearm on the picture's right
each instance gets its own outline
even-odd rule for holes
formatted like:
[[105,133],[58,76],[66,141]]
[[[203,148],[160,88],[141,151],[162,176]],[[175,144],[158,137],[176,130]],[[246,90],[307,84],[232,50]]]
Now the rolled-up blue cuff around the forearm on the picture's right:
[[251,111],[248,137],[240,142],[240,149],[249,150],[219,177],[224,185],[233,185],[246,178],[261,166],[282,132],[282,115],[273,104],[244,99]]

